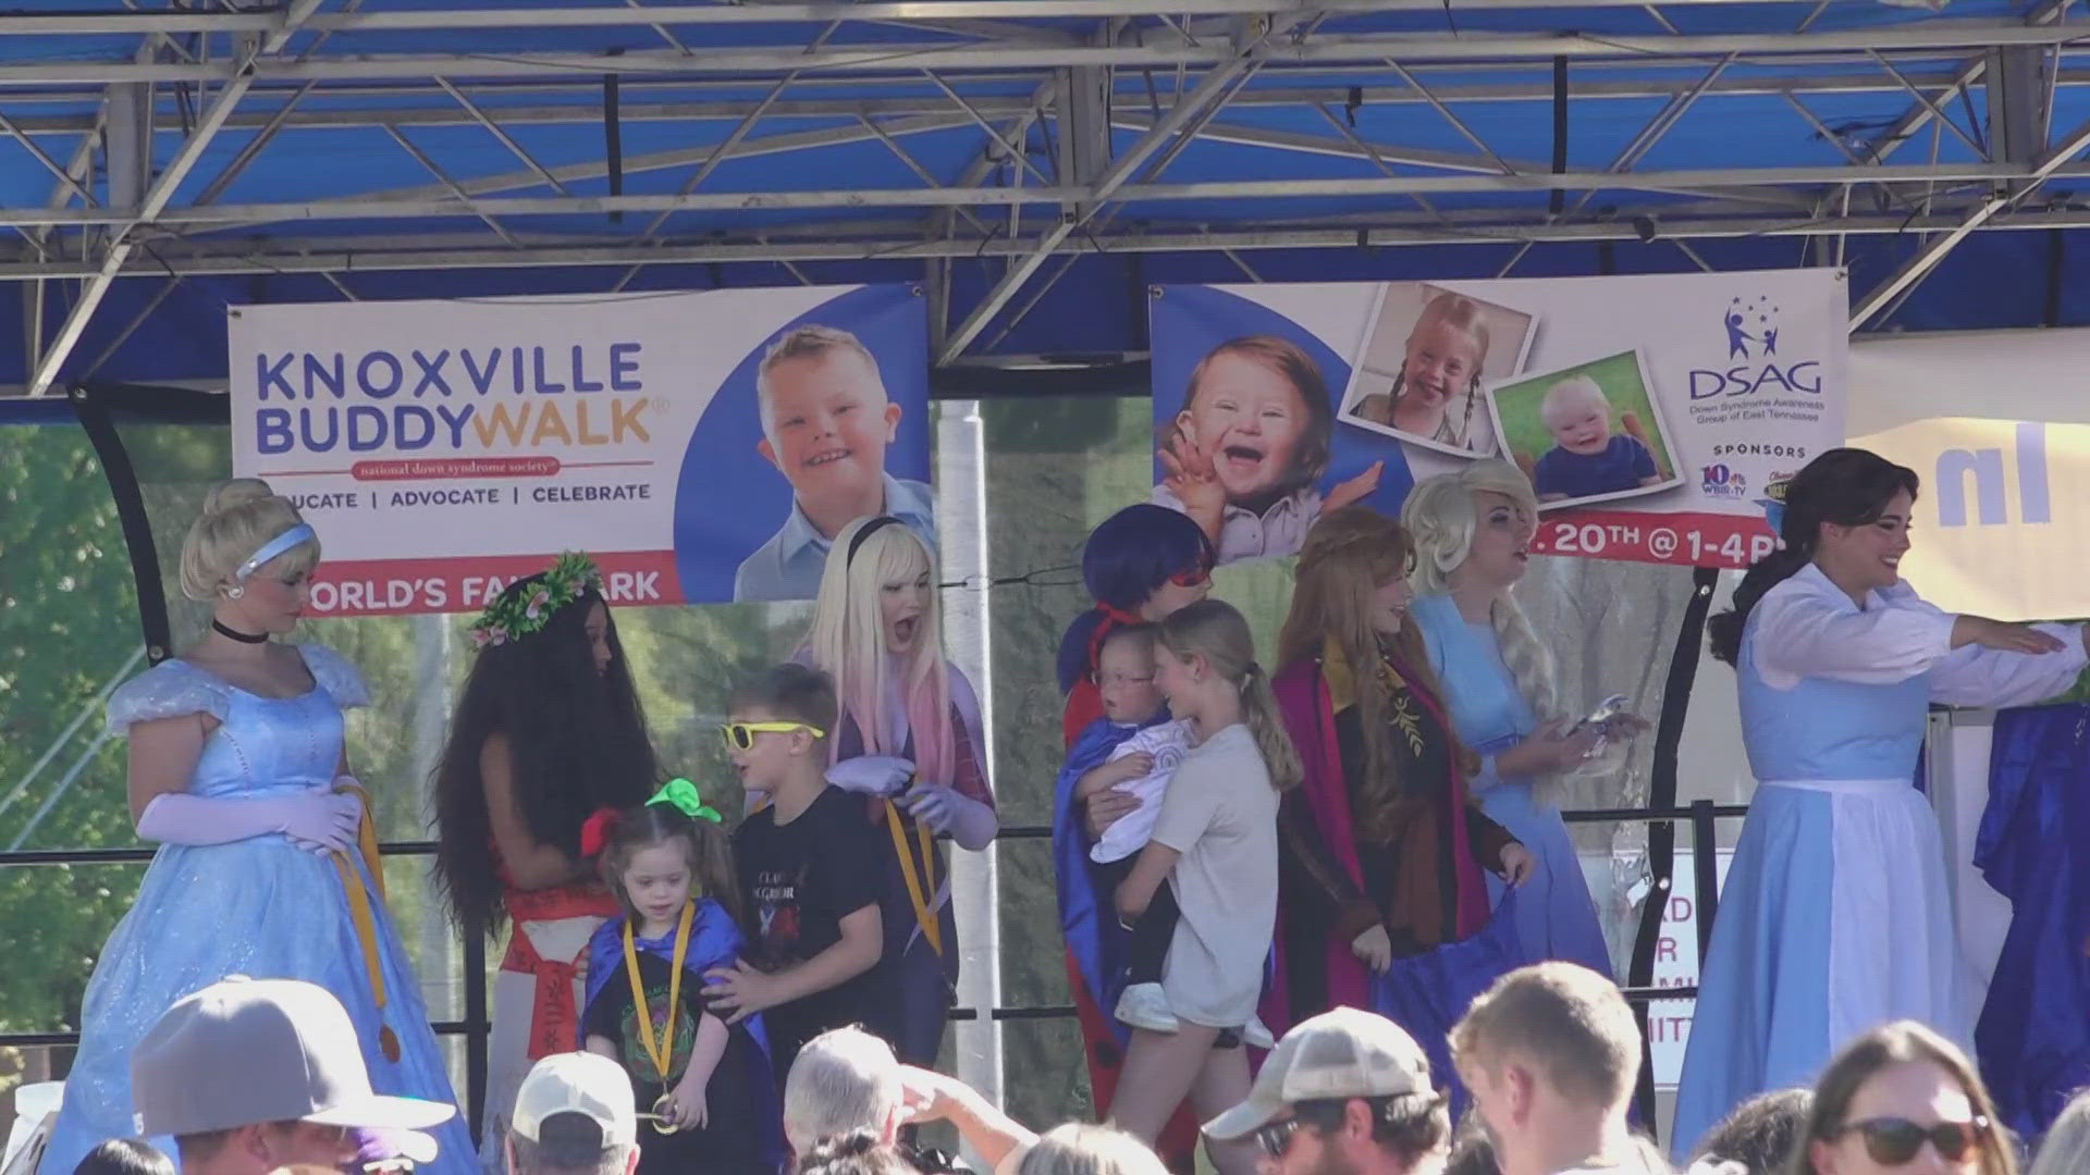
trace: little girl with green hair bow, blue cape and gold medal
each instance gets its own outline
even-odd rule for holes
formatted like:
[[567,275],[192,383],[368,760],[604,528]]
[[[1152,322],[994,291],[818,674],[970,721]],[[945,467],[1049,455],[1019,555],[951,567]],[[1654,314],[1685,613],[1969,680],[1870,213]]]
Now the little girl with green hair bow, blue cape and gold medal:
[[581,1043],[621,1064],[652,1129],[640,1175],[777,1171],[784,1119],[763,1016],[727,1018],[704,1004],[704,972],[732,966],[740,878],[723,817],[690,780],[589,820],[587,849],[623,914],[587,943]]

